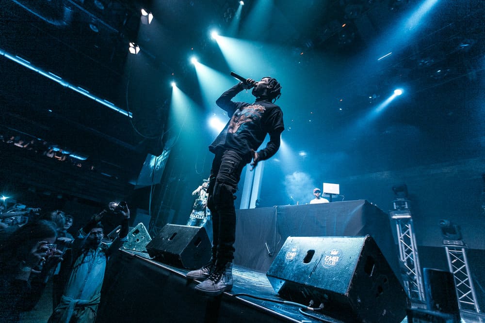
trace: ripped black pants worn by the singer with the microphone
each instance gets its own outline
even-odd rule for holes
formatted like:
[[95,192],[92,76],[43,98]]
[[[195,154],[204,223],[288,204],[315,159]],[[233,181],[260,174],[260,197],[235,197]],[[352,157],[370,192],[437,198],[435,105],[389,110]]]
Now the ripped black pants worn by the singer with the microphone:
[[212,162],[207,206],[212,215],[212,258],[219,265],[234,259],[236,241],[234,193],[238,190],[242,169],[249,161],[248,156],[225,150],[218,152]]

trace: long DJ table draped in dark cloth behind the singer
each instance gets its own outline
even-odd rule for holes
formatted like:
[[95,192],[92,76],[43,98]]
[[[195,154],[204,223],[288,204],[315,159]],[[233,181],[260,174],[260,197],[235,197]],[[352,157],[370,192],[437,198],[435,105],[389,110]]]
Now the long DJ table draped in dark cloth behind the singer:
[[[366,200],[236,210],[234,263],[268,271],[286,238],[372,235],[401,280],[388,214]],[[315,246],[318,248],[318,246]]]

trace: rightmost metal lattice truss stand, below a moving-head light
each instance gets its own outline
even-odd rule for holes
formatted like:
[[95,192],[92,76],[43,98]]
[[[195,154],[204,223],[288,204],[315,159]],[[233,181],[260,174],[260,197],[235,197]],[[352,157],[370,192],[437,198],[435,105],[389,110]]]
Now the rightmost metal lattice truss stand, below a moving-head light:
[[446,250],[450,272],[454,276],[460,309],[473,310],[480,313],[465,251],[467,246],[460,240],[444,240],[443,246]]

